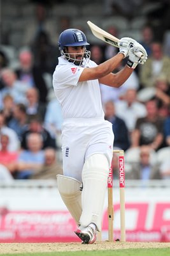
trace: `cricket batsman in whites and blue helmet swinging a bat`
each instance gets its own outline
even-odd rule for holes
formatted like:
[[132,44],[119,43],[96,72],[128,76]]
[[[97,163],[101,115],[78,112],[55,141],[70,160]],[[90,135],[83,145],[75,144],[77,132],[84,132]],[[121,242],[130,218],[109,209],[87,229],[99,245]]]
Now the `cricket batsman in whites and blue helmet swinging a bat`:
[[[96,241],[101,231],[104,198],[113,155],[114,134],[104,120],[99,83],[120,87],[147,54],[132,38],[122,38],[119,52],[97,65],[90,60],[85,34],[66,29],[59,36],[59,64],[53,73],[53,90],[62,108],[62,159],[64,175],[57,175],[60,196],[78,228],[83,244]],[[137,54],[143,53],[139,58]],[[128,57],[122,70],[113,74]],[[55,115],[55,113],[54,113]]]

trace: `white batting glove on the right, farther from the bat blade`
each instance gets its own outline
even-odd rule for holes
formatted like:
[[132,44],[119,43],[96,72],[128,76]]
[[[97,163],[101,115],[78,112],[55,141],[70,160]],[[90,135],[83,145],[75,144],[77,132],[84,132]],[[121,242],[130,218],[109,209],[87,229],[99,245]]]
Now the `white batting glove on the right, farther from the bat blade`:
[[[139,57],[141,54],[141,57]],[[127,60],[127,66],[131,68],[136,68],[139,64],[143,65],[147,60],[148,54],[145,48],[136,42],[134,46],[129,50],[129,59]]]

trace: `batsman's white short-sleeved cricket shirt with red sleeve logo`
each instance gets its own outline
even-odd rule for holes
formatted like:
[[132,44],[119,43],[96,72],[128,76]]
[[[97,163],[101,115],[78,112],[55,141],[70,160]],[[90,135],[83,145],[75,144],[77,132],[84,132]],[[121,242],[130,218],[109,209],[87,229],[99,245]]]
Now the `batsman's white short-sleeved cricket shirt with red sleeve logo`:
[[[96,67],[89,61],[86,67]],[[101,104],[99,81],[78,82],[85,67],[59,57],[59,65],[53,72],[53,89],[62,108],[62,116],[66,118],[104,118]]]

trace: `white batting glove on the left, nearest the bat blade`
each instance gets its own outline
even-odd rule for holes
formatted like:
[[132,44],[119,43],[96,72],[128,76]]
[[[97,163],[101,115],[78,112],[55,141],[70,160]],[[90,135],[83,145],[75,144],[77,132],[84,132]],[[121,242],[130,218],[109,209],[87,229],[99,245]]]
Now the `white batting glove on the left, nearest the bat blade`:
[[127,57],[129,55],[129,49],[131,49],[135,43],[137,43],[136,40],[130,37],[122,37],[118,42],[120,52],[124,54],[125,57]]

